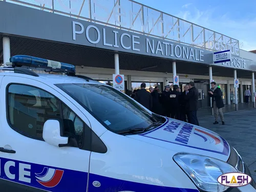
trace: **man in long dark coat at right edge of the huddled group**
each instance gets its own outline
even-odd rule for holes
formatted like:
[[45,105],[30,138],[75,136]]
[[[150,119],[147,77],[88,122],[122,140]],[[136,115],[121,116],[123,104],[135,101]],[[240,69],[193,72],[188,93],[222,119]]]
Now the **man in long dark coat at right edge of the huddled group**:
[[188,100],[188,122],[194,125],[199,125],[198,119],[197,119],[197,110],[198,110],[198,97],[199,92],[197,88],[195,88],[195,83],[193,81],[190,81],[188,83],[188,94],[185,96],[185,99]]

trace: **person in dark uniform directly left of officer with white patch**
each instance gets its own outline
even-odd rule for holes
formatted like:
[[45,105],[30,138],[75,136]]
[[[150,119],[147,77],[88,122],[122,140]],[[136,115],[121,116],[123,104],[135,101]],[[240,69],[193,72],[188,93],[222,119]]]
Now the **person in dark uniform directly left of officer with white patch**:
[[161,103],[163,106],[163,116],[165,117],[170,117],[170,112],[171,112],[171,105],[170,105],[170,86],[167,85],[164,87],[164,91],[161,94]]

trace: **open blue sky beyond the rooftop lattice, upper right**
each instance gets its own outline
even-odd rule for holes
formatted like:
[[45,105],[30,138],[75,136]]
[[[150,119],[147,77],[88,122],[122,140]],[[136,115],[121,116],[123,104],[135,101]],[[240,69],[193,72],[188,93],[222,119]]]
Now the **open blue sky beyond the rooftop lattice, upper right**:
[[240,49],[256,50],[256,1],[136,0],[168,14],[240,41]]

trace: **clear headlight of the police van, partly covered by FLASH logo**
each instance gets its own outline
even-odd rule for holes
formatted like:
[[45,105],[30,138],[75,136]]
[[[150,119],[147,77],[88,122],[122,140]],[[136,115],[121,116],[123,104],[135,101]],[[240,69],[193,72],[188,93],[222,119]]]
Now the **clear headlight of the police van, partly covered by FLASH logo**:
[[221,185],[218,177],[225,173],[238,172],[228,163],[206,156],[178,153],[173,158],[196,186],[204,191],[225,191],[228,187]]

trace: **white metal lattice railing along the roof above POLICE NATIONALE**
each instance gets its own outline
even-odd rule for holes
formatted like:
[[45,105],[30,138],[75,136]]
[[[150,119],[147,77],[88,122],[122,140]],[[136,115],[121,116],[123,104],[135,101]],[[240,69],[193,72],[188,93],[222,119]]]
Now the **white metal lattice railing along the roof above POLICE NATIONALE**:
[[0,0],[211,51],[230,49],[239,40],[132,0]]

